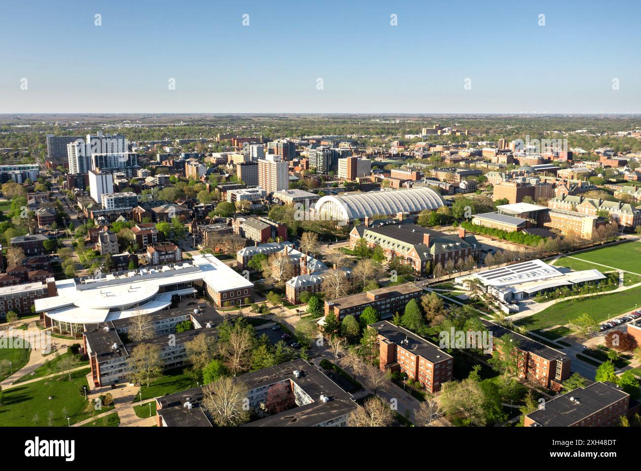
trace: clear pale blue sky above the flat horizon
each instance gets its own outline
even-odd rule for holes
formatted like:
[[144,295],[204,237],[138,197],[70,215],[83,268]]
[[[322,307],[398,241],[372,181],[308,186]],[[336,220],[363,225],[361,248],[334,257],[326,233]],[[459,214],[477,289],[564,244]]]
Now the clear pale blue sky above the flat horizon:
[[0,113],[640,113],[640,19],[637,0],[3,0]]

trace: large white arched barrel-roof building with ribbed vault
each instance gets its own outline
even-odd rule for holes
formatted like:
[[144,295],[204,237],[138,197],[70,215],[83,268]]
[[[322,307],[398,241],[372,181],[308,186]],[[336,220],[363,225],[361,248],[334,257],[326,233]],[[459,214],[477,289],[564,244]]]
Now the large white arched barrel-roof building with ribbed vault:
[[351,195],[324,196],[314,206],[314,215],[321,220],[349,221],[365,216],[419,213],[444,206],[440,195],[430,188],[408,188]]

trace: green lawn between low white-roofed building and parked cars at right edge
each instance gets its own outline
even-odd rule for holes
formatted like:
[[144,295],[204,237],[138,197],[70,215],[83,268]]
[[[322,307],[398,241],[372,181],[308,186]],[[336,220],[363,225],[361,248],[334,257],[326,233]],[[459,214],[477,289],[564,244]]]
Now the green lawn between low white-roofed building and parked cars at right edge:
[[588,313],[597,322],[603,322],[641,306],[641,286],[629,290],[583,299],[569,299],[553,304],[549,308],[529,317],[524,317],[515,324],[529,330],[545,329],[551,326],[565,326],[570,320]]

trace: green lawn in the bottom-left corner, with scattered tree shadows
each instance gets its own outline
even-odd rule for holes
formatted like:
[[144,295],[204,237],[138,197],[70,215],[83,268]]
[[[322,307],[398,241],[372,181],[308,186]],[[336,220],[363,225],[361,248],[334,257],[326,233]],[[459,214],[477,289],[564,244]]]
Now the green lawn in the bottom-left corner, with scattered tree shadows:
[[[71,380],[67,374],[15,386],[2,393],[0,427],[54,427],[67,426],[67,418],[75,424],[105,411],[94,409],[80,393],[87,384],[89,368],[74,371]],[[49,396],[53,399],[48,399]],[[110,406],[113,408],[113,406]]]

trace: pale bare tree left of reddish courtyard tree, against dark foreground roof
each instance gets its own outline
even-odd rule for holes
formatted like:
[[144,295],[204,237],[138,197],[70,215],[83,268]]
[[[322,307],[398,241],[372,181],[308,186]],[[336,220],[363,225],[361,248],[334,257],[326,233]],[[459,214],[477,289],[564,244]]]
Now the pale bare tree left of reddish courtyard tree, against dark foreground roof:
[[224,377],[204,386],[203,406],[217,426],[240,426],[249,421],[247,392],[244,383]]

